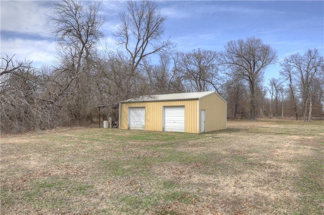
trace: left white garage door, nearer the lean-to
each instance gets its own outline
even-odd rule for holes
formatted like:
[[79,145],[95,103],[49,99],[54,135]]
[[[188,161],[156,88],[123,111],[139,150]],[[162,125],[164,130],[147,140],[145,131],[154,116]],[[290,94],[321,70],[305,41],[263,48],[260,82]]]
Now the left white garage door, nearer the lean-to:
[[128,129],[145,129],[145,108],[128,109]]

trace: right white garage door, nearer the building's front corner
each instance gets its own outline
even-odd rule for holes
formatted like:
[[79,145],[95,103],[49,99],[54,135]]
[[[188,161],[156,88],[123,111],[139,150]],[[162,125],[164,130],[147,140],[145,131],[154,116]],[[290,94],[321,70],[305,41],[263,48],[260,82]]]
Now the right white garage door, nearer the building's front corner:
[[184,132],[184,106],[164,107],[164,131]]

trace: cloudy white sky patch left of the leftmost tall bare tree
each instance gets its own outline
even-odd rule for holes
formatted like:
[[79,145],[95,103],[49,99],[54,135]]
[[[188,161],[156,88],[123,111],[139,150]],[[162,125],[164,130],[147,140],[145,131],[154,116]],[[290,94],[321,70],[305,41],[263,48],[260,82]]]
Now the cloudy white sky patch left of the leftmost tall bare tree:
[[1,56],[14,56],[17,61],[32,61],[40,67],[52,64],[55,42],[49,22],[53,2],[1,2]]

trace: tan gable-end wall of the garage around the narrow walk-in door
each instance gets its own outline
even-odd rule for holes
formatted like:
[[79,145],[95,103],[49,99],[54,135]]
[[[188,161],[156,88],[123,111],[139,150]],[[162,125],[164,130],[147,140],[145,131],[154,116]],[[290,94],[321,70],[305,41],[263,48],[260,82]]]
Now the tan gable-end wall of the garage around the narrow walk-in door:
[[[216,93],[199,100],[199,115],[201,114],[201,110],[206,110],[206,132],[227,128],[227,103]],[[200,121],[199,131],[201,130]]]

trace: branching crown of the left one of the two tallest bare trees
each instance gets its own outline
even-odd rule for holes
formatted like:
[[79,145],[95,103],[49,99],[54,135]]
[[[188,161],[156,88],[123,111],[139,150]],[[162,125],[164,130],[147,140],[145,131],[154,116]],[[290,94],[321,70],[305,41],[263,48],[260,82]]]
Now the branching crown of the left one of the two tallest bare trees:
[[100,28],[105,17],[99,14],[100,7],[100,2],[89,3],[87,8],[77,0],[54,3],[55,15],[50,19],[57,27],[52,33],[59,48],[66,55],[73,56],[78,67],[83,59],[90,61],[97,40],[103,37]]

